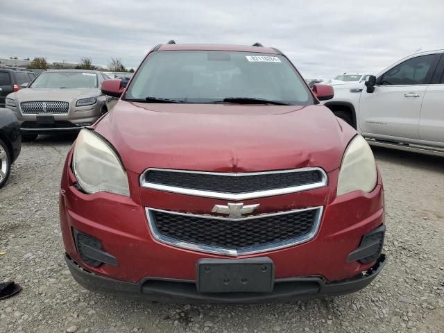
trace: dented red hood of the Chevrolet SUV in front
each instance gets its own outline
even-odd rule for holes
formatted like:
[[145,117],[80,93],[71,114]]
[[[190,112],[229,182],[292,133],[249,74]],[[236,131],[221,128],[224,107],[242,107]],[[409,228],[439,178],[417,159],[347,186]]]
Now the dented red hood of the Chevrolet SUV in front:
[[152,104],[119,101],[95,125],[126,169],[250,172],[339,168],[356,134],[323,105]]

